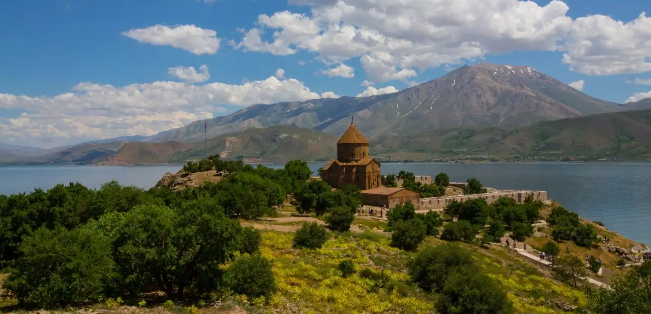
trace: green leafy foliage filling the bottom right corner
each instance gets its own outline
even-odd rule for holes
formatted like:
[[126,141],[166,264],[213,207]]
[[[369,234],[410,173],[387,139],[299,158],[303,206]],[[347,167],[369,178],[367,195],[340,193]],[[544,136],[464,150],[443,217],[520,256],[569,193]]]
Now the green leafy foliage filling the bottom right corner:
[[620,274],[610,287],[589,291],[588,308],[595,314],[651,313],[651,276],[637,271]]

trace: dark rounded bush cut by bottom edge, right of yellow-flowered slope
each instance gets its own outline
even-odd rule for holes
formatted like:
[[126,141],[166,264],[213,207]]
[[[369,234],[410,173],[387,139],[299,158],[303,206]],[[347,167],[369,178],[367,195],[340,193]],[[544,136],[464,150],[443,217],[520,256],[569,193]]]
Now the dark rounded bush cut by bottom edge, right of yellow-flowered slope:
[[437,313],[497,314],[513,313],[506,291],[486,274],[462,269],[445,280]]

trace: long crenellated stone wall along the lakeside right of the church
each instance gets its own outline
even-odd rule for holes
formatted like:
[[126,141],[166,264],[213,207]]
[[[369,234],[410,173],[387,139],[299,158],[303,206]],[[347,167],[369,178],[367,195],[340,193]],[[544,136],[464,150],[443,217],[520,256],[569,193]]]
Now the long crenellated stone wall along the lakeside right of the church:
[[492,193],[482,194],[469,194],[469,195],[456,195],[450,197],[428,197],[421,199],[421,210],[442,210],[456,200],[457,202],[464,202],[471,199],[485,199],[488,204],[495,202],[500,197],[510,197],[516,202],[524,202],[527,196],[531,195],[534,200],[547,200],[547,191],[521,191],[521,190],[508,190]]

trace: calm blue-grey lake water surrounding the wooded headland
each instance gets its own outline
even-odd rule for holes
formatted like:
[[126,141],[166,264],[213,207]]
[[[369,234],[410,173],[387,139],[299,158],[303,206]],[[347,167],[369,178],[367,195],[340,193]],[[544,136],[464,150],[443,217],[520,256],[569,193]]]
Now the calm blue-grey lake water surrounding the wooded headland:
[[[310,165],[312,171],[323,163]],[[282,165],[268,165],[283,167]],[[3,166],[0,167],[0,194],[48,189],[59,183],[80,182],[100,187],[117,180],[120,184],[152,187],[167,172],[181,165],[141,167],[94,166]],[[651,244],[651,163],[384,163],[382,173],[400,170],[415,175],[445,172],[453,182],[478,178],[484,186],[497,189],[548,191],[581,217],[602,221],[608,228]]]

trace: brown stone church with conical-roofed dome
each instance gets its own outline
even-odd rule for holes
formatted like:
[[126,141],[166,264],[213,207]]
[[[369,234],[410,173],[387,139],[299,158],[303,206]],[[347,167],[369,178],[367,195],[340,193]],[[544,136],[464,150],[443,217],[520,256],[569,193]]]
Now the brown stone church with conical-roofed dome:
[[324,165],[321,178],[337,189],[346,184],[354,184],[362,190],[381,186],[380,162],[368,156],[368,141],[352,121],[337,141],[337,159]]

